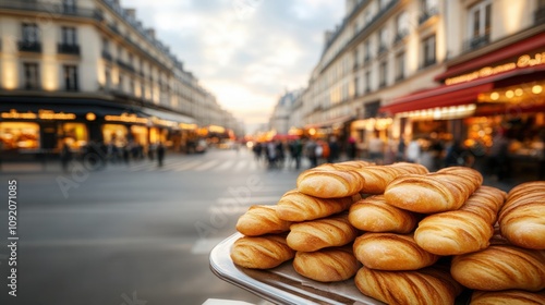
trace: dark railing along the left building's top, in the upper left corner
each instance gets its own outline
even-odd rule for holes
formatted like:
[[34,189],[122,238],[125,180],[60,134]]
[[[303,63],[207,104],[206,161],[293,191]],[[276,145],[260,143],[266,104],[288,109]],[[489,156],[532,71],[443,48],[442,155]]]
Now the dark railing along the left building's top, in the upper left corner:
[[98,21],[101,21],[104,19],[102,14],[94,9],[85,9],[75,5],[53,4],[50,3],[50,1],[32,2],[32,1],[0,0],[0,9],[22,10],[28,12],[45,12],[48,14],[48,16],[51,17],[69,15],[69,16],[88,17]]

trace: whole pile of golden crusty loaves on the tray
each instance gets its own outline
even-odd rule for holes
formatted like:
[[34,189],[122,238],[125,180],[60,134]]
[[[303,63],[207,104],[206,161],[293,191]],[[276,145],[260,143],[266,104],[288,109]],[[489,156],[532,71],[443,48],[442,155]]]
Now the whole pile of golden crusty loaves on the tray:
[[276,205],[240,217],[231,259],[291,260],[319,282],[353,278],[388,304],[545,304],[545,181],[508,194],[471,168],[326,163],[302,172]]

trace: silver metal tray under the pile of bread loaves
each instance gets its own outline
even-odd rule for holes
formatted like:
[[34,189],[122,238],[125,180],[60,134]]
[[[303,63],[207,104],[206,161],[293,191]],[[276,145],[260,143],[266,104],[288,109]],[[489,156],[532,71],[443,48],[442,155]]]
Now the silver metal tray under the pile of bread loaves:
[[293,270],[291,260],[268,270],[242,268],[230,257],[235,233],[220,242],[210,252],[210,269],[220,279],[247,290],[276,304],[384,304],[363,295],[354,280],[320,283],[306,279]]

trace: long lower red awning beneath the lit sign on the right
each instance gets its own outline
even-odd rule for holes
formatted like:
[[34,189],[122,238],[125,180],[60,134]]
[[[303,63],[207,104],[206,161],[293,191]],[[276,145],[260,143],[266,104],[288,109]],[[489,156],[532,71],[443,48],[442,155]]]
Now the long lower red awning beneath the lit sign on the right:
[[441,85],[431,89],[415,91],[380,107],[379,112],[396,114],[404,111],[423,110],[436,107],[450,107],[476,102],[481,93],[491,91],[498,81],[531,73],[541,73],[545,65],[516,69],[512,71],[477,78],[475,81],[456,85]]

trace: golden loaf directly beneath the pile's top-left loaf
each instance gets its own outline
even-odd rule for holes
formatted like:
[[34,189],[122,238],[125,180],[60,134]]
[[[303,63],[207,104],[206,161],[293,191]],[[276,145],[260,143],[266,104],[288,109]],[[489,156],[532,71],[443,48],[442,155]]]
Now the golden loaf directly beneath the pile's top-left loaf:
[[292,190],[280,198],[276,212],[280,219],[288,221],[314,220],[341,212],[352,203],[352,197],[318,198]]

